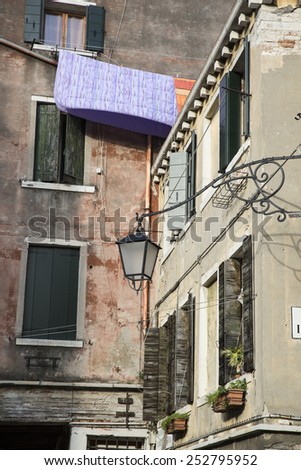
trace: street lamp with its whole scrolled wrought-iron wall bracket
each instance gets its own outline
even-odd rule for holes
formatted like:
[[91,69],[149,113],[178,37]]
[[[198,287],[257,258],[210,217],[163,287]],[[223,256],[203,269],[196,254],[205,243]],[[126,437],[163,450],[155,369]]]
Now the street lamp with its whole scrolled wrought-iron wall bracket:
[[[297,115],[296,119],[301,119],[301,113]],[[145,231],[142,227],[143,218],[152,217],[175,210],[183,204],[187,204],[188,202],[192,201],[200,194],[207,191],[209,188],[226,188],[226,191],[229,194],[228,197],[231,199],[231,201],[232,199],[237,198],[239,201],[245,203],[243,210],[251,207],[256,214],[278,214],[277,219],[279,222],[283,222],[288,214],[294,214],[294,211],[288,211],[284,207],[280,206],[278,201],[275,202],[273,197],[284,185],[284,164],[289,160],[301,159],[301,155],[296,154],[298,149],[299,146],[291,155],[284,155],[282,157],[267,157],[260,160],[253,160],[251,162],[243,163],[242,165],[236,167],[234,166],[231,168],[231,170],[226,171],[222,175],[216,177],[210,181],[210,183],[203,186],[195,194],[183,201],[178,202],[177,204],[156,212],[142,214],[140,218],[138,217],[138,214],[136,214],[138,226],[136,227],[135,231],[116,242],[119,247],[124,275],[125,278],[128,279],[130,287],[136,292],[139,292],[142,289],[143,281],[151,281],[157,256],[160,250],[160,246],[156,245],[156,243],[152,242],[145,235]],[[268,165],[271,165],[271,167],[274,169],[272,174],[270,174],[267,170]],[[261,169],[263,170],[262,172],[260,171]],[[274,189],[269,192],[267,191],[266,186],[276,174],[279,175],[279,181],[276,182],[277,184]],[[239,193],[243,186],[242,182],[247,181],[254,183],[255,192],[250,192],[250,194],[246,197],[245,195],[241,195]],[[221,203],[224,204],[224,201],[222,200]]]

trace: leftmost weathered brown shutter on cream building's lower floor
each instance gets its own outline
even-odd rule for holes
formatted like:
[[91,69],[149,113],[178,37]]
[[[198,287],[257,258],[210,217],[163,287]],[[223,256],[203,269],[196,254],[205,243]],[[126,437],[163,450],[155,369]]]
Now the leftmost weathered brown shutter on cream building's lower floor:
[[149,328],[144,342],[143,419],[158,418],[159,328]]

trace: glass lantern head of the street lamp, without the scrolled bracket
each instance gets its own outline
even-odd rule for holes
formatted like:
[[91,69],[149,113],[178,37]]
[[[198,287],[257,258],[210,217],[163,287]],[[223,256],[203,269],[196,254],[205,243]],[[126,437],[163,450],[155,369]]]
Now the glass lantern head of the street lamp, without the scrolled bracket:
[[134,233],[117,241],[124,277],[137,293],[142,290],[143,281],[151,281],[161,247],[152,242],[138,220]]

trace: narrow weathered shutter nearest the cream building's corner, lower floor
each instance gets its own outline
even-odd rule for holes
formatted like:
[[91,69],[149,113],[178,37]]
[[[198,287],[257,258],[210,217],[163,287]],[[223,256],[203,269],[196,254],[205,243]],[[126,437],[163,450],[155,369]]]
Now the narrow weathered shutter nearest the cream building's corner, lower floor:
[[253,292],[252,292],[252,238],[243,243],[242,287],[243,287],[243,344],[244,370],[251,372],[253,364]]

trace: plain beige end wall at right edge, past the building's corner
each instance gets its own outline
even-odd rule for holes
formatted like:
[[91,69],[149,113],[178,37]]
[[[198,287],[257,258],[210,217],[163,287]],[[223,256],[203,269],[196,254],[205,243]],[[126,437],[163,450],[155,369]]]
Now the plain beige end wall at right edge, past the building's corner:
[[[252,122],[257,138],[252,146],[259,157],[300,154],[300,121],[295,119],[301,109],[300,20],[300,9],[269,12],[263,8],[254,30],[252,88],[257,119]],[[283,168],[285,185],[278,201],[298,211],[300,160],[287,162]],[[294,384],[300,376],[294,364],[301,343],[292,339],[291,307],[301,302],[300,218],[288,217],[279,223],[267,217],[265,224],[268,237],[258,239],[255,277],[257,375],[262,384],[258,399],[270,413],[299,415]]]

